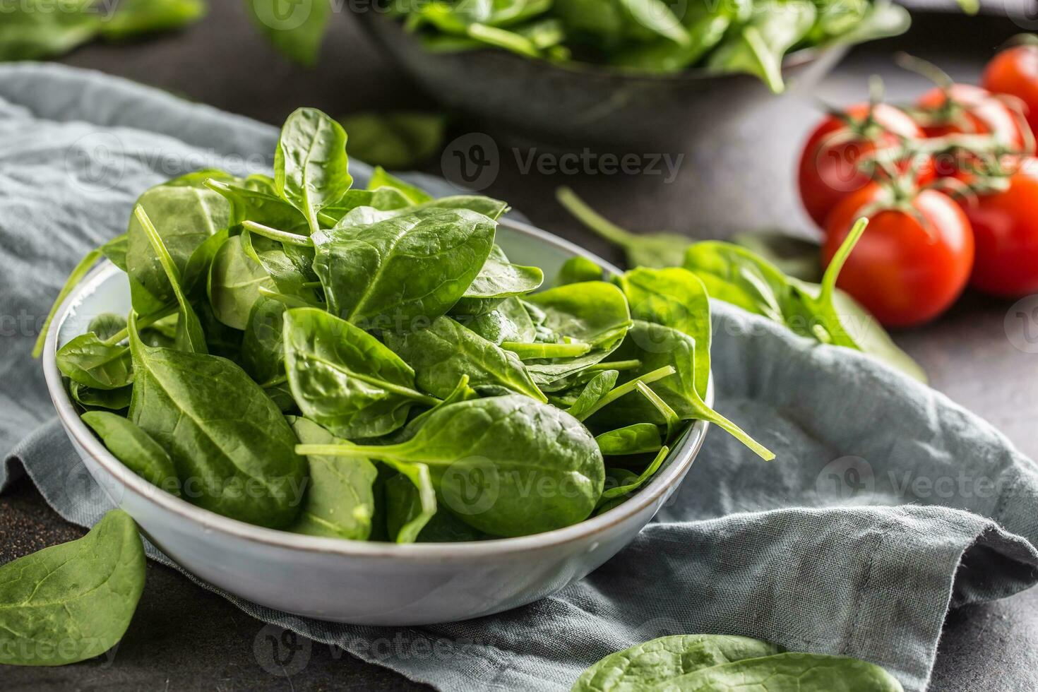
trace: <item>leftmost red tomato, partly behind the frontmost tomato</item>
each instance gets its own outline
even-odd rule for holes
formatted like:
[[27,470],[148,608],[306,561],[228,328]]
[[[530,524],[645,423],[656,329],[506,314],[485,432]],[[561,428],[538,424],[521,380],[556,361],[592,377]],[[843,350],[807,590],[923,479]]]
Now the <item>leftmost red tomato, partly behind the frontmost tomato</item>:
[[[850,127],[841,118],[825,118],[811,133],[800,155],[800,199],[819,227],[824,227],[825,217],[841,199],[869,184],[869,176],[857,167],[865,155],[899,146],[901,137],[923,137],[919,126],[894,106],[876,105],[871,121],[868,104],[851,106],[844,112],[852,121]],[[902,171],[907,167],[907,163],[899,166]],[[933,178],[928,166],[926,171],[920,174],[923,183]]]

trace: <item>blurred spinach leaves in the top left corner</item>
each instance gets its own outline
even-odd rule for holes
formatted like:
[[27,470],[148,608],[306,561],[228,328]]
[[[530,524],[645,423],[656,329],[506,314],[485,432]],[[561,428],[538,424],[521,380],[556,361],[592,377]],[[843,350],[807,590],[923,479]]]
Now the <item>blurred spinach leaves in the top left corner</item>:
[[121,40],[201,19],[206,0],[19,0],[0,6],[0,60],[62,55],[103,38]]

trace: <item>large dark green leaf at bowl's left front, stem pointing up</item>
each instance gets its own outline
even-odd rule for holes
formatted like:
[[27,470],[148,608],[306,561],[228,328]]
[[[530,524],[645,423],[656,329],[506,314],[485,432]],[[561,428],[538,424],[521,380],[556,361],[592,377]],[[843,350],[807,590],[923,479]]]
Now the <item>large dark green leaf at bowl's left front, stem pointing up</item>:
[[169,453],[186,499],[257,526],[291,524],[306,462],[264,390],[224,358],[144,345],[133,312],[130,350],[129,418]]

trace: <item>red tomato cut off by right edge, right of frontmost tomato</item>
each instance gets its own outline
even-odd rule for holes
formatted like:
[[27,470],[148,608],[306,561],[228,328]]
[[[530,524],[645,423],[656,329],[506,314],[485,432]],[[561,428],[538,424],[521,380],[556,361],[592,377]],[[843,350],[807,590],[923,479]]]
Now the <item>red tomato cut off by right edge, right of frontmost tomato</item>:
[[977,258],[971,284],[1019,298],[1038,292],[1038,159],[1026,159],[1008,189],[962,202]]

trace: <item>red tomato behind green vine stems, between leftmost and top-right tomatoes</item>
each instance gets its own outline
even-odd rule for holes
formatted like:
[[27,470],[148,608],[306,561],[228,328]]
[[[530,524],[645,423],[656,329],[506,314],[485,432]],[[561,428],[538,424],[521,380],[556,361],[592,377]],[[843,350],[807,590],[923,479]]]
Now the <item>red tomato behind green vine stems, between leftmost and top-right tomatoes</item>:
[[[920,96],[917,105],[933,120],[923,124],[927,137],[993,135],[1000,143],[1015,151],[1034,153],[1034,140],[1027,121],[987,89],[973,84],[953,84],[946,92],[934,87]],[[936,164],[940,175],[952,175],[958,169],[955,161],[937,161]]]

